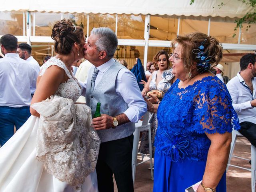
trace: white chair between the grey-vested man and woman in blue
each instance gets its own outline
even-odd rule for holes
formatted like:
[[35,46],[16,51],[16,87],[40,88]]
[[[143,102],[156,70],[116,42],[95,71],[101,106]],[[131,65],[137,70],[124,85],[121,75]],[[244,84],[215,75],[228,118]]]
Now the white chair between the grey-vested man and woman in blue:
[[[145,162],[150,161],[150,170],[151,170],[151,179],[153,180],[153,164],[152,164],[152,144],[151,144],[151,130],[150,130],[150,123],[148,123],[149,118],[149,112],[146,112],[143,116],[142,121],[138,121],[138,123],[135,124],[135,131],[133,133],[134,139],[133,139],[133,148],[132,148],[132,180],[133,183],[135,181],[135,175],[136,175],[136,166]],[[138,145],[140,140],[140,132],[148,130],[148,146],[149,146],[149,156],[147,154],[142,154],[138,152]],[[143,156],[149,157],[148,160],[142,161],[137,164],[137,156],[138,153],[142,154]]]

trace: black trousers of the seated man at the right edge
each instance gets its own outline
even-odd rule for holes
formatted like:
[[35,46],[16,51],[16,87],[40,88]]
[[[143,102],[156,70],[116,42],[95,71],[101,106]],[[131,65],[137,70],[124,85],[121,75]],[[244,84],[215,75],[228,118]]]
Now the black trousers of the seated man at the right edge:
[[241,129],[239,132],[245,136],[254,147],[256,147],[256,124],[245,121],[240,123]]

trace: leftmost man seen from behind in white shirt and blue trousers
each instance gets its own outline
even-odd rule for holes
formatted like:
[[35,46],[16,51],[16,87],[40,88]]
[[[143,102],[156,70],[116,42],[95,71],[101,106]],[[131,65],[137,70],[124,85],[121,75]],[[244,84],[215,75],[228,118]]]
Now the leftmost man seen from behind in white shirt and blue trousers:
[[12,137],[30,117],[30,86],[36,71],[16,53],[18,40],[11,34],[0,38],[0,145]]

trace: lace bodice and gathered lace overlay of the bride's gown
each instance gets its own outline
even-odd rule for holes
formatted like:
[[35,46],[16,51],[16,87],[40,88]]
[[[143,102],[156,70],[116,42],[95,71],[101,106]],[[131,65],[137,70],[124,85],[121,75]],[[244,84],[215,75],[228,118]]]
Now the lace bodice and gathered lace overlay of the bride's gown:
[[84,179],[95,170],[100,139],[91,127],[91,109],[74,104],[81,88],[65,64],[51,58],[40,76],[52,65],[63,68],[69,79],[60,84],[54,96],[31,106],[40,114],[36,158],[49,174],[81,191]]

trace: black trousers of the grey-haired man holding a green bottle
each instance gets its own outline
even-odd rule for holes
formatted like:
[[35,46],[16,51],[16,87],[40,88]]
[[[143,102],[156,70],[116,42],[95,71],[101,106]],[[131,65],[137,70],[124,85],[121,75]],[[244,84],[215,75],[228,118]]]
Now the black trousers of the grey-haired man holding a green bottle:
[[118,192],[134,192],[132,146],[133,134],[100,144],[96,165],[99,192],[114,192],[113,174]]

